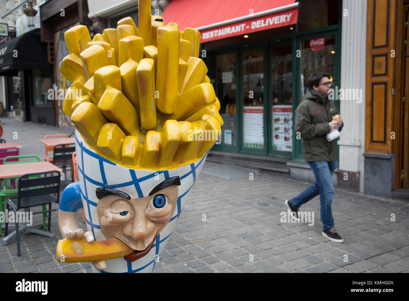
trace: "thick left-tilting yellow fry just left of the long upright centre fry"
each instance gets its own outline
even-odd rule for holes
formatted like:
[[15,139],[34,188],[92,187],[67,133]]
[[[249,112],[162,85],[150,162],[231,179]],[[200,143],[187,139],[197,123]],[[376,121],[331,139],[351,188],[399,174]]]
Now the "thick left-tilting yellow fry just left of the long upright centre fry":
[[107,86],[98,109],[110,122],[118,124],[127,136],[139,134],[137,111],[121,91]]

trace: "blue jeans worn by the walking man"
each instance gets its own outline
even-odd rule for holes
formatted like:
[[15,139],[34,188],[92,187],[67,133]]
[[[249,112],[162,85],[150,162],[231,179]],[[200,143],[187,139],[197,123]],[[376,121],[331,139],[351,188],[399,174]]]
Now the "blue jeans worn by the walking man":
[[314,172],[315,183],[301,192],[297,197],[290,199],[290,204],[299,208],[313,197],[319,195],[319,203],[321,206],[321,222],[324,224],[323,229],[328,230],[334,227],[332,217],[331,202],[334,196],[334,185],[332,182],[332,174],[337,168],[337,160],[332,162],[315,161],[308,162],[312,172]]

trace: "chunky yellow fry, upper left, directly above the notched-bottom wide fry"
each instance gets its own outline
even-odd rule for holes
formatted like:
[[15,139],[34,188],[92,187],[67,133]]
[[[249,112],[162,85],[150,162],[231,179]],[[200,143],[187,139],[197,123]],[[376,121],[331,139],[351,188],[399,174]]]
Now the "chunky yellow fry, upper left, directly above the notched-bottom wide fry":
[[108,66],[108,57],[101,45],[92,45],[80,54],[86,79],[90,79],[94,72],[103,66]]

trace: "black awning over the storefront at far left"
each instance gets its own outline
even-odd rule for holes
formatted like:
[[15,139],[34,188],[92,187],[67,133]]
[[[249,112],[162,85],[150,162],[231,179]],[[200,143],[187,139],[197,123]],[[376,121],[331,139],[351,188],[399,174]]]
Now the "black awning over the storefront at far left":
[[31,30],[0,45],[0,75],[13,75],[24,69],[49,68],[47,43],[40,42],[40,29]]

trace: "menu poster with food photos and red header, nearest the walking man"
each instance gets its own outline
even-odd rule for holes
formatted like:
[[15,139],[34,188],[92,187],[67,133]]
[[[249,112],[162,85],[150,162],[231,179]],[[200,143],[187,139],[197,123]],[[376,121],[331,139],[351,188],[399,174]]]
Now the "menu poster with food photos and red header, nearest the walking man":
[[272,149],[292,152],[292,105],[274,105],[272,116]]

